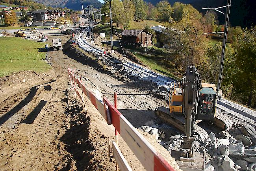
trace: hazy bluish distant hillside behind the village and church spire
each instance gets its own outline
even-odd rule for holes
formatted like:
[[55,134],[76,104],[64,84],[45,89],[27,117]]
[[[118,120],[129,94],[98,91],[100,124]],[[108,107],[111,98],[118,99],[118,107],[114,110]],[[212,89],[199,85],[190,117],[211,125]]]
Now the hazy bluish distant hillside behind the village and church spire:
[[38,3],[42,3],[45,6],[67,7],[73,10],[81,10],[82,4],[84,7],[92,5],[95,8],[100,8],[103,5],[98,0],[34,0],[34,1]]

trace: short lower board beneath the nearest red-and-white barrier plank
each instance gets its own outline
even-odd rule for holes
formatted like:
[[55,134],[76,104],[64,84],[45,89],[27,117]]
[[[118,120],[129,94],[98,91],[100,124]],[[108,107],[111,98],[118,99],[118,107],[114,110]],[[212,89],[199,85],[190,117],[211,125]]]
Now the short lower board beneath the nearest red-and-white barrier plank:
[[117,143],[112,141],[112,147],[113,147],[113,156],[115,158],[115,161],[117,162],[119,168],[121,171],[132,171],[132,168],[125,160],[124,156],[122,155],[120,149],[118,148]]

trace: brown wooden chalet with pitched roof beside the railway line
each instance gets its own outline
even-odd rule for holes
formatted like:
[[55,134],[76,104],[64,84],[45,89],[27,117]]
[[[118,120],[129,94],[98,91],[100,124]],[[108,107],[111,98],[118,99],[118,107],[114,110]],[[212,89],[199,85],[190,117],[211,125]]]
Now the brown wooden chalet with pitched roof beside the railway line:
[[143,29],[126,29],[120,33],[124,45],[139,44],[142,47],[152,46],[152,34]]

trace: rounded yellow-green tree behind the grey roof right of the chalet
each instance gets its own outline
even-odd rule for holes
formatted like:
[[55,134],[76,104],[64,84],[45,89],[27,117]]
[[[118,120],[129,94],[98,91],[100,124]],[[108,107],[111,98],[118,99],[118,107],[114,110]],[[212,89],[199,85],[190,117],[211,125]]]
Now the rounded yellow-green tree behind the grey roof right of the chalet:
[[163,22],[171,20],[171,15],[173,13],[173,8],[168,1],[160,1],[156,4],[158,11],[158,18]]

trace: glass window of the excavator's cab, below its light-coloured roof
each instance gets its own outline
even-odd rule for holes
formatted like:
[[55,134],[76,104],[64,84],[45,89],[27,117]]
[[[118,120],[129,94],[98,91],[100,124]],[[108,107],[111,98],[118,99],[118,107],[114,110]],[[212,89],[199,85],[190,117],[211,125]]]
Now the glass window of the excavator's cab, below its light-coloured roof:
[[203,87],[200,91],[199,111],[201,115],[212,116],[215,113],[216,92],[211,87]]

